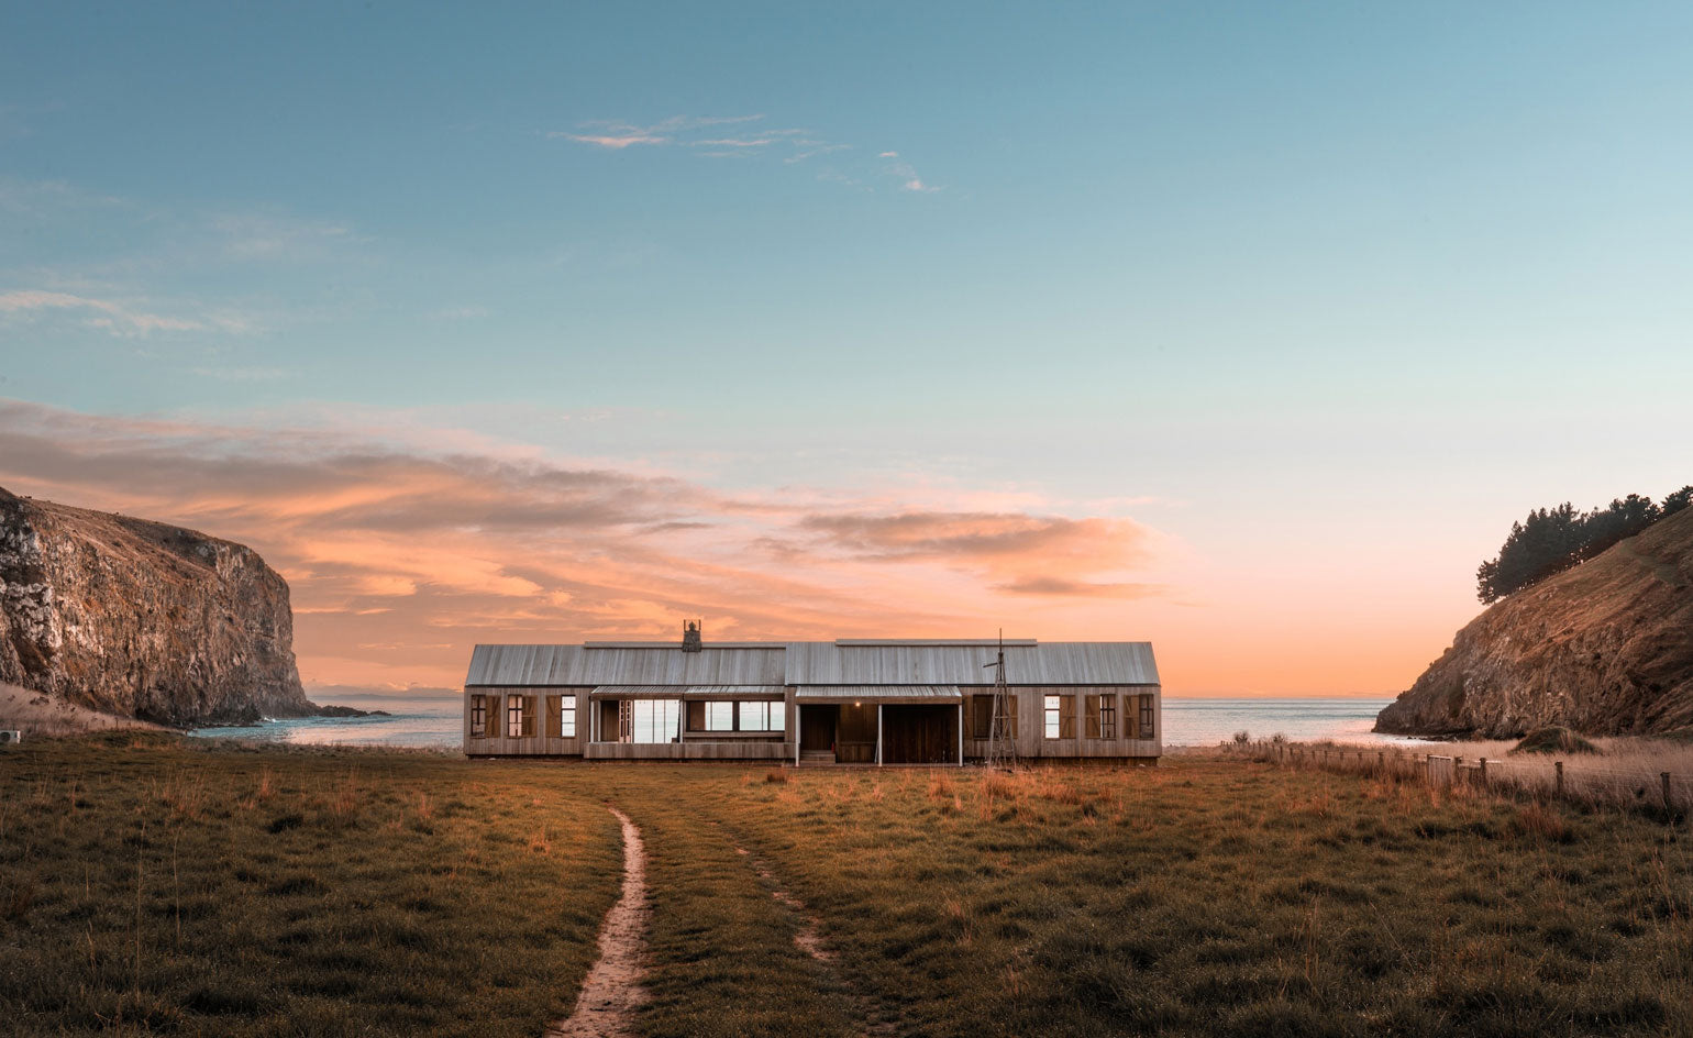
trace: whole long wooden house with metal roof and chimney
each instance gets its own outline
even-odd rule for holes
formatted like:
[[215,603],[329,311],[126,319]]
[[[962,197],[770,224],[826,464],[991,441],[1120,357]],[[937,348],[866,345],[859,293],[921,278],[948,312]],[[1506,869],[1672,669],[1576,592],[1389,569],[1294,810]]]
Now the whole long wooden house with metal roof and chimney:
[[997,654],[1024,760],[1153,762],[1148,642],[836,640],[477,645],[469,757],[963,764],[990,748]]

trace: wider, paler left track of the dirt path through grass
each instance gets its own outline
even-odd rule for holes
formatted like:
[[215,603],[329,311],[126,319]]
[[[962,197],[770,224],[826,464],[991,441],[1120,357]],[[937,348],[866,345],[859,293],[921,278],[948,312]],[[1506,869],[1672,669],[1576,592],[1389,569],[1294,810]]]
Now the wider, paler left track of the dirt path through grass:
[[630,816],[608,808],[623,823],[623,894],[599,928],[599,962],[587,970],[576,1009],[542,1038],[625,1038],[635,1035],[635,1008],[645,1001],[642,950],[647,945],[647,850]]

